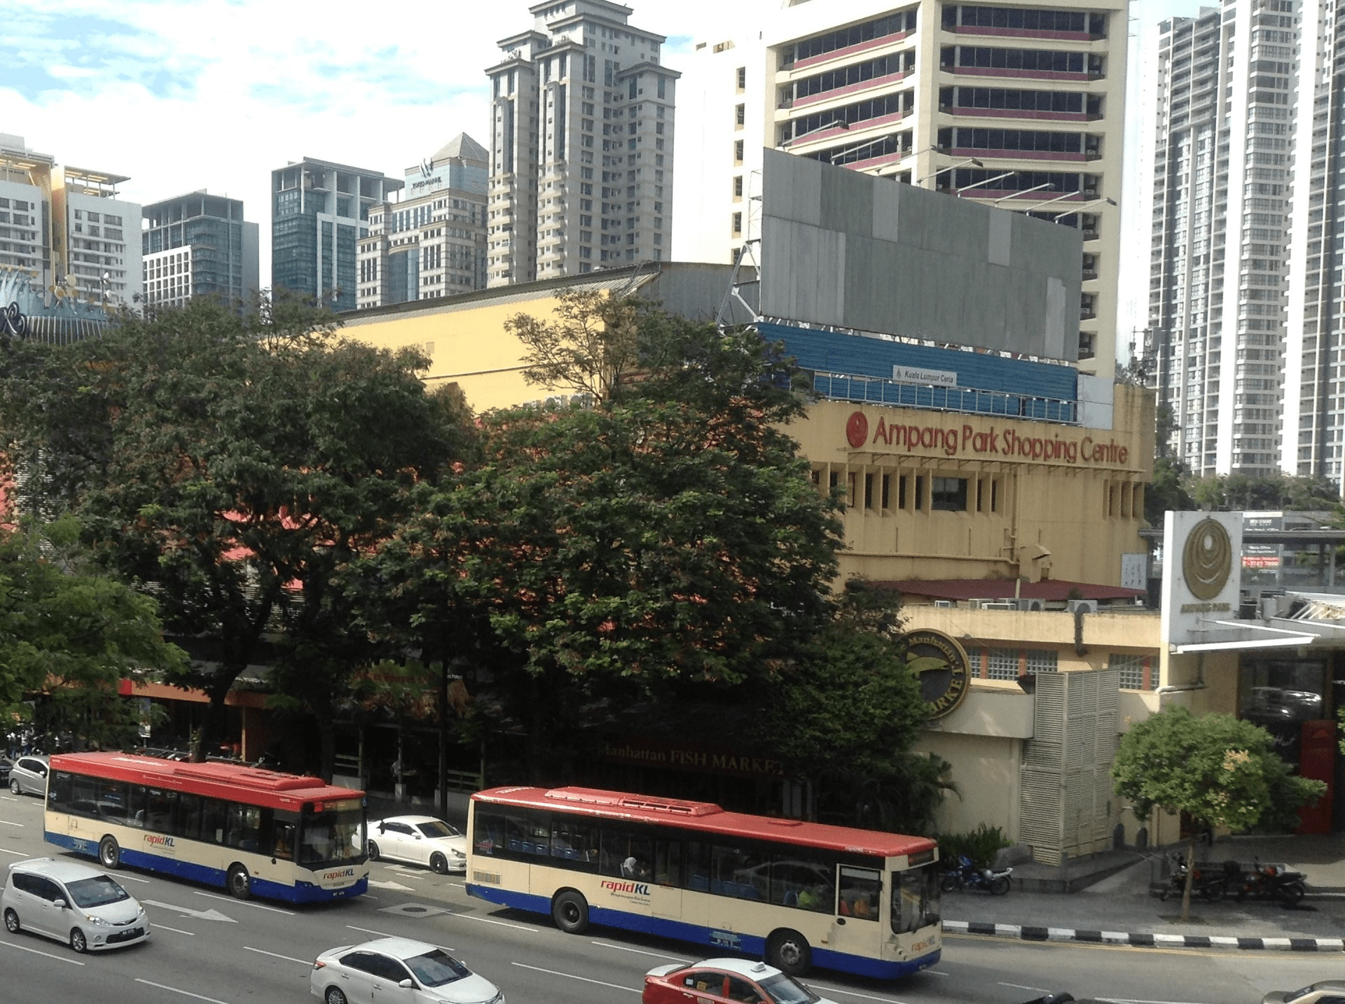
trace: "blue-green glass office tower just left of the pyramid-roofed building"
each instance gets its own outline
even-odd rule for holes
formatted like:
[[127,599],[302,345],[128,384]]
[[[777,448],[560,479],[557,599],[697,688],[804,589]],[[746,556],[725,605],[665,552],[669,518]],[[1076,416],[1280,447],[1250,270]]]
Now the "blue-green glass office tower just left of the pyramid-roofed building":
[[312,157],[272,171],[272,286],[354,310],[369,212],[401,187],[375,171]]

